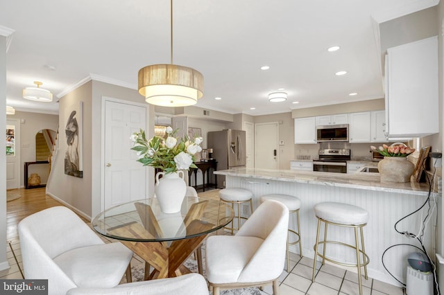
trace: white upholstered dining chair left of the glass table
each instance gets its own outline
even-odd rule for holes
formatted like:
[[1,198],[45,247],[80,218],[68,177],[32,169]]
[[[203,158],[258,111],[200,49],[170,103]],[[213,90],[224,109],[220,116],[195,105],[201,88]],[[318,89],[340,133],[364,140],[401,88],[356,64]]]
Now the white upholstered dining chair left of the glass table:
[[56,206],[19,222],[24,278],[48,279],[49,294],[74,287],[115,287],[131,281],[133,252],[119,242],[105,244],[69,208]]

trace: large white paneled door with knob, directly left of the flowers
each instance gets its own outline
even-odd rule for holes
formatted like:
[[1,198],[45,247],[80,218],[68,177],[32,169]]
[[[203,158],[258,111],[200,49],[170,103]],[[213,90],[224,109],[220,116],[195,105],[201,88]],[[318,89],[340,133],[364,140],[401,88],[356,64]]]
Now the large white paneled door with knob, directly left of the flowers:
[[146,107],[105,101],[105,184],[102,210],[146,197],[148,171],[137,162],[130,136],[146,129]]

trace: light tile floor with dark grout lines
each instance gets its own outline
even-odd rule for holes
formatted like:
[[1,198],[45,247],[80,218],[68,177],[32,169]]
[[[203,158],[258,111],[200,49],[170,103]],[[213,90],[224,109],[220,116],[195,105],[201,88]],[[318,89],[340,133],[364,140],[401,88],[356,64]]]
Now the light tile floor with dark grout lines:
[[[219,199],[217,190],[210,190],[205,193],[199,193],[203,199]],[[221,234],[219,232],[219,234]],[[105,242],[114,242],[108,238],[101,237]],[[205,251],[203,251],[205,253]],[[17,237],[8,240],[7,258],[10,269],[0,271],[0,278],[19,279],[23,278],[22,255]],[[131,261],[133,268],[137,265],[144,265],[142,258],[135,256]],[[280,294],[282,295],[355,295],[359,294],[357,285],[357,274],[352,271],[345,271],[333,265],[324,265],[320,263],[316,267],[316,282],[311,282],[313,260],[310,258],[300,258],[297,254],[290,253],[291,271],[282,271],[280,276]],[[387,283],[369,278],[363,280],[364,295],[404,295],[404,289],[395,287]],[[122,279],[125,283],[126,278]],[[271,287],[265,287],[263,295],[273,294]]]

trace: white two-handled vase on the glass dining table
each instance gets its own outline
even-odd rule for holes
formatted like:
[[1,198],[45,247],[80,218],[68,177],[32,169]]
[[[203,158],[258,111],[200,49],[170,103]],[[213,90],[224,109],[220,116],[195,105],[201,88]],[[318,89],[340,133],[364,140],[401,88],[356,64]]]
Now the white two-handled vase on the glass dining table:
[[[162,175],[162,178],[160,178]],[[178,213],[182,206],[187,184],[183,179],[184,172],[157,172],[155,175],[155,195],[162,213]]]

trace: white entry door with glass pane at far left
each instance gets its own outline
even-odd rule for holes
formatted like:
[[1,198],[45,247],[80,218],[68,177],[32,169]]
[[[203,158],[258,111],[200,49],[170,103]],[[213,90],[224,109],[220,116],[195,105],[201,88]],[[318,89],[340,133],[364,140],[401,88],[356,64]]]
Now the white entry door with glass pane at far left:
[[20,187],[20,120],[6,120],[6,189]]

